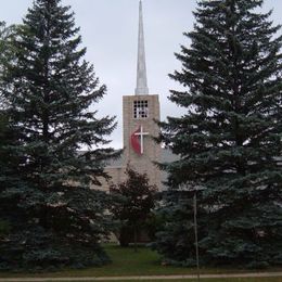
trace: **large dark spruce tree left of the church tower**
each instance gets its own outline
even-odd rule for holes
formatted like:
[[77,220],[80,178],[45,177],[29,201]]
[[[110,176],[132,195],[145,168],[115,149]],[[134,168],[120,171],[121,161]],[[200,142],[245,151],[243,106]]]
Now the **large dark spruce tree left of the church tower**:
[[90,185],[107,177],[105,161],[116,153],[102,148],[115,121],[97,117],[105,86],[84,60],[78,31],[61,0],[36,0],[14,37],[16,54],[2,87],[13,132],[2,149],[14,162],[12,177],[1,179],[0,218],[10,232],[1,240],[0,268],[107,259],[98,244],[108,231],[107,197]]

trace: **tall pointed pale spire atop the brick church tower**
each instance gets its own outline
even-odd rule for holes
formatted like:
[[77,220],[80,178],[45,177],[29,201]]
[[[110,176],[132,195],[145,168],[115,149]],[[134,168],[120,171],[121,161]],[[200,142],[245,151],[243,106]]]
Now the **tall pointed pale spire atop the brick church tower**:
[[138,31],[138,62],[137,62],[137,87],[136,95],[149,94],[146,85],[146,62],[143,30],[142,1],[139,1],[139,31]]

